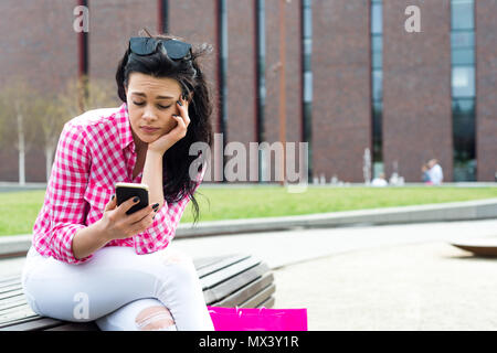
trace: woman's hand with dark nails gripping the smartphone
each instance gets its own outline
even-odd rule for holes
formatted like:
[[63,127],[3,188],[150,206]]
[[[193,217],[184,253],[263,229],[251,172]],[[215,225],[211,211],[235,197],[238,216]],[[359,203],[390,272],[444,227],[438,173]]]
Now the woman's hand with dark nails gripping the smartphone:
[[108,240],[129,238],[146,231],[154,223],[159,204],[148,205],[129,215],[126,214],[137,203],[139,203],[138,196],[117,206],[117,197],[113,196],[105,205],[101,223]]

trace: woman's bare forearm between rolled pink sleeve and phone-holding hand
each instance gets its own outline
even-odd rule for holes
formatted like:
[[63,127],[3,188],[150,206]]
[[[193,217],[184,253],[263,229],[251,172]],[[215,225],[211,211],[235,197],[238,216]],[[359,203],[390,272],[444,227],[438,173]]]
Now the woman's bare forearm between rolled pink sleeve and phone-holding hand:
[[105,234],[99,221],[81,228],[73,237],[73,253],[77,259],[85,258],[104,247],[110,238]]

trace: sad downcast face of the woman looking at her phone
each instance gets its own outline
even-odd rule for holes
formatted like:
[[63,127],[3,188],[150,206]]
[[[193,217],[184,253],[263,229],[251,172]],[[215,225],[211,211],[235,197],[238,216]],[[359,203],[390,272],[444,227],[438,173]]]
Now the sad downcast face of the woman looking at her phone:
[[172,115],[180,115],[176,101],[181,87],[176,79],[131,73],[126,97],[135,145],[151,143],[171,131],[177,121]]

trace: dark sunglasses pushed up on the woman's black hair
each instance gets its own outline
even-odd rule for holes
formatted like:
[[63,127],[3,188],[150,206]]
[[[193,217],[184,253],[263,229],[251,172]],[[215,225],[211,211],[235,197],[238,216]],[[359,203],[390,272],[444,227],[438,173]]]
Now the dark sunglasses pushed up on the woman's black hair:
[[147,36],[133,36],[129,39],[129,51],[137,55],[150,55],[161,51],[171,60],[191,58],[191,44],[178,40],[156,40]]

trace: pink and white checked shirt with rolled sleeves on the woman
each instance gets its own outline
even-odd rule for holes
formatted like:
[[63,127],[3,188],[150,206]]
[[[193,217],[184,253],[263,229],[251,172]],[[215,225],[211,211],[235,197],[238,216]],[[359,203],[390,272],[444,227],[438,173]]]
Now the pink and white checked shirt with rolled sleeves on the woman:
[[[59,139],[52,174],[43,206],[33,227],[33,246],[43,256],[82,264],[72,250],[76,231],[102,218],[114,194],[116,182],[141,181],[142,171],[133,179],[135,142],[126,103],[119,108],[86,111],[64,125]],[[197,178],[199,188],[205,168]],[[189,196],[157,211],[154,224],[145,232],[105,246],[129,246],[137,254],[163,249],[172,240]]]

